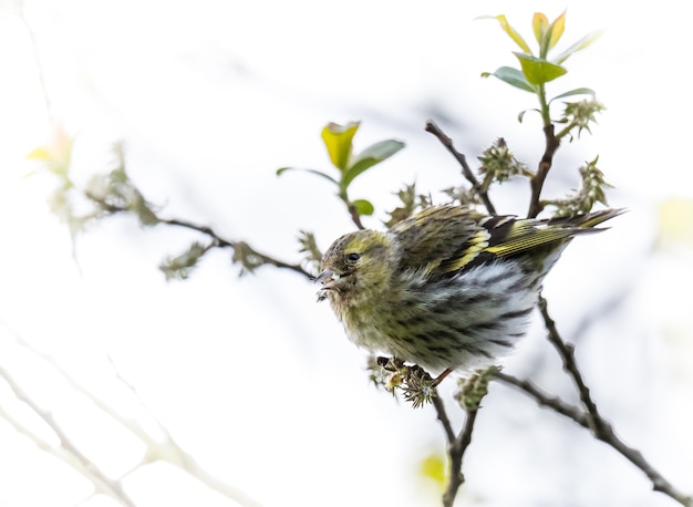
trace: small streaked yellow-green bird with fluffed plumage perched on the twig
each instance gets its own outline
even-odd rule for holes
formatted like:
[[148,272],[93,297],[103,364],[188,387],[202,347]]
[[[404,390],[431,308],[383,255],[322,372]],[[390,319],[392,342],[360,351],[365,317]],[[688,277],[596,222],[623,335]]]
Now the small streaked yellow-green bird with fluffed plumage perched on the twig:
[[318,300],[330,301],[356,345],[442,380],[508,353],[566,245],[622,211],[535,219],[433,206],[390,230],[337,239],[322,257]]

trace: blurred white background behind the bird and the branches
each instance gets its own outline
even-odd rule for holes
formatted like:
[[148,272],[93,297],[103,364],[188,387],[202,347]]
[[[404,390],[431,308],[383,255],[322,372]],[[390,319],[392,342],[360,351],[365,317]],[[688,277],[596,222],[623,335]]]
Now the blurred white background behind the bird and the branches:
[[[298,260],[299,229],[325,248],[353,227],[324,182],[276,176],[329,166],[328,122],[361,121],[356,146],[407,145],[354,184],[353,197],[376,205],[372,227],[406,183],[437,199],[462,183],[424,133],[428,118],[473,163],[503,136],[534,166],[538,118],[517,122],[532,96],[479,77],[515,64],[515,46],[476,18],[505,13],[529,40],[534,12],[566,8],[566,45],[607,31],[567,62],[555,92],[589,86],[608,108],[593,135],[561,148],[547,194],[575,188],[577,167],[599,154],[610,204],[630,211],[575,241],[545,294],[617,432],[693,490],[692,48],[671,0],[2,1],[0,365],[137,505],[438,505],[445,444],[434,411],[369,384],[364,352],[316,304],[313,286],[273,268],[238,278],[223,250],[166,282],[159,262],[198,236],[128,217],[73,241],[46,204],[55,179],[25,155],[63,132],[84,184],[123,143],[128,174],[163,216]],[[496,198],[521,214],[526,185]],[[577,400],[538,323],[504,365]],[[165,443],[158,421],[235,499],[156,454],[139,466],[143,441],[75,385]],[[18,432],[10,421],[59,445],[7,382],[0,408],[0,505],[115,505]],[[458,427],[459,411],[448,412]],[[612,449],[503,385],[479,414],[465,476],[465,506],[674,505]]]

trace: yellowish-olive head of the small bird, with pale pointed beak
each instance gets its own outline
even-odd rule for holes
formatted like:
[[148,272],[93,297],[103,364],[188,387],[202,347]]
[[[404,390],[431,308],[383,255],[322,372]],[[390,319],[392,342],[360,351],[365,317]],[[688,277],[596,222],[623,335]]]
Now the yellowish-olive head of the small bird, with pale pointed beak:
[[358,230],[337,239],[322,257],[318,301],[366,298],[390,279],[392,239],[384,232]]

